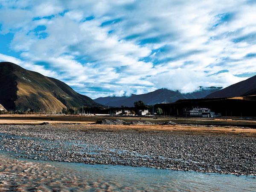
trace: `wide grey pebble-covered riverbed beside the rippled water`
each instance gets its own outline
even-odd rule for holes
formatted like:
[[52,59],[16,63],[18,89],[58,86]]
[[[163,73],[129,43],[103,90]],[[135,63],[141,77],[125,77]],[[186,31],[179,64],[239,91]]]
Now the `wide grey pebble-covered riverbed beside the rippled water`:
[[70,129],[76,126],[0,125],[0,150],[38,160],[256,175],[256,137]]

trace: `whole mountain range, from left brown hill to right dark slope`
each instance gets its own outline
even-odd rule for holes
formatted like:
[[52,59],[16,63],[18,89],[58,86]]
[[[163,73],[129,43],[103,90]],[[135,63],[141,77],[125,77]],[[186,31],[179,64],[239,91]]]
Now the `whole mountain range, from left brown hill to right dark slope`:
[[[235,105],[234,101],[239,101],[241,102],[242,108],[244,101],[246,101],[249,106],[251,102],[255,100],[256,76],[230,85],[224,89],[221,88],[222,87],[198,87],[197,91],[186,94],[168,89],[158,89],[150,93],[131,95],[129,97],[109,96],[93,100],[87,96],[76,93],[71,87],[58,79],[23,69],[10,62],[0,62],[0,110],[8,111],[28,111],[30,109],[35,112],[52,113],[55,111],[59,112],[67,107],[80,108],[82,105],[87,107],[102,107],[103,105],[132,107],[134,106],[134,102],[139,100],[142,100],[145,105],[176,102],[176,104],[173,105],[181,106],[180,103],[183,103],[184,106],[185,104],[188,106],[188,103],[190,103],[192,106],[199,106],[198,101],[201,100],[198,99],[200,98],[204,98],[202,105],[207,103],[208,100],[210,102],[220,101],[219,103],[232,103],[232,105],[228,105],[228,108],[231,108]],[[213,98],[213,100],[211,98]],[[225,98],[232,99],[225,100]],[[179,104],[177,104],[177,102]],[[222,103],[220,105],[224,106]],[[218,106],[217,103],[209,105],[211,108],[223,108],[221,106]]]

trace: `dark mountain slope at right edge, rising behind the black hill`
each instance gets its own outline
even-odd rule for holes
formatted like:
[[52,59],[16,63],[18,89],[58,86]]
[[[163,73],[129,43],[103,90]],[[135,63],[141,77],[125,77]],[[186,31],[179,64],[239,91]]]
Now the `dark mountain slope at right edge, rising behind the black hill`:
[[244,81],[232,84],[222,90],[207,95],[205,98],[214,97],[238,97],[256,95],[256,76],[250,77]]

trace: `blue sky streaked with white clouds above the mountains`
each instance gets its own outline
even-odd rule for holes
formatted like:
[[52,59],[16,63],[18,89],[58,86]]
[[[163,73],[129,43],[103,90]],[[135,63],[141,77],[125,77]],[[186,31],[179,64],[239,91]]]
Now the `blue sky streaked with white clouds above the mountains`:
[[93,99],[256,75],[256,0],[0,0],[0,61]]

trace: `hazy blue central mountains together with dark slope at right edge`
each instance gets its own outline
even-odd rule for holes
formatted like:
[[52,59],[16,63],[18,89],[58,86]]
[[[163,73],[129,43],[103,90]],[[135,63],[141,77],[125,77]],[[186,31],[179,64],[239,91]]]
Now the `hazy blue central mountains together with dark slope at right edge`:
[[198,90],[192,93],[180,93],[168,89],[158,89],[150,93],[131,96],[108,96],[94,99],[102,105],[108,106],[128,106],[132,107],[134,102],[142,100],[145,105],[155,105],[159,103],[173,103],[179,99],[201,99],[201,98],[228,98],[240,96],[256,95],[256,76],[244,81],[230,85],[224,89],[222,87],[198,87]]

